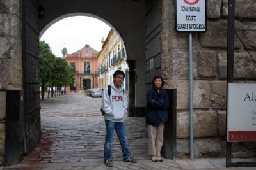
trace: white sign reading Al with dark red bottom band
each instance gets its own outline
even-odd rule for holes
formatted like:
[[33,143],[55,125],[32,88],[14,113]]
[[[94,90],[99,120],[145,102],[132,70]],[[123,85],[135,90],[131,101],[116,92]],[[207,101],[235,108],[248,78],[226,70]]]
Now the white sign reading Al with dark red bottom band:
[[228,83],[227,141],[256,141],[256,83]]

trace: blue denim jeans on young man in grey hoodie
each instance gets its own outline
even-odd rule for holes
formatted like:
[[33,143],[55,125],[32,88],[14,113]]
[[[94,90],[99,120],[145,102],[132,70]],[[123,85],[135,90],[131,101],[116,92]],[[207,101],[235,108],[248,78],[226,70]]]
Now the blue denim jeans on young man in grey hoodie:
[[112,122],[110,120],[105,120],[106,124],[106,138],[104,144],[104,160],[112,159],[111,144],[113,142],[114,129],[116,131],[117,137],[120,141],[122,151],[123,151],[123,160],[129,159],[131,153],[128,149],[128,143],[126,139],[125,123],[124,122]]

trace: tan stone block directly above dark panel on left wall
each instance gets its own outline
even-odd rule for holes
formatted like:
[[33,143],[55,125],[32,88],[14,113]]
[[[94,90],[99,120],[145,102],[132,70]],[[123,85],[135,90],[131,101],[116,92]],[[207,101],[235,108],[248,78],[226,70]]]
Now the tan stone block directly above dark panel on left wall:
[[0,60],[0,80],[3,89],[22,89],[22,62],[17,59]]

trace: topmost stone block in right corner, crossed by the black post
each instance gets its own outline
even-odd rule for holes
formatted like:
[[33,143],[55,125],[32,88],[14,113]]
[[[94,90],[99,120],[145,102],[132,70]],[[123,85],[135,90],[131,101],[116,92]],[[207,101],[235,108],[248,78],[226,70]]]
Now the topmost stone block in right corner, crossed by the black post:
[[[253,0],[236,0],[235,9],[235,16],[238,18],[256,18],[256,4]],[[223,0],[222,15],[228,16],[228,0]]]

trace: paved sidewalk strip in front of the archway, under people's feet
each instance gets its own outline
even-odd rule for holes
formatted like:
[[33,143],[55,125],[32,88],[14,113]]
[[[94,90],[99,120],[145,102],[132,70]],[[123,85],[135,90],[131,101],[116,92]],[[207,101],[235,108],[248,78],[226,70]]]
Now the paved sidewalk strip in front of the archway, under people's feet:
[[[234,159],[232,161],[256,161],[255,159]],[[220,159],[164,159],[163,162],[152,162],[151,160],[138,160],[138,163],[132,164],[120,160],[114,161],[114,167],[107,167],[104,165],[102,159],[84,159],[83,162],[61,162],[61,163],[47,163],[47,164],[17,164],[9,167],[0,167],[0,170],[104,170],[104,169],[241,169],[249,170],[256,169],[256,167],[225,167],[225,158]]]

